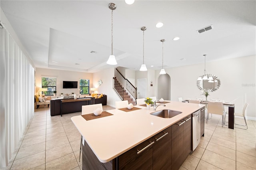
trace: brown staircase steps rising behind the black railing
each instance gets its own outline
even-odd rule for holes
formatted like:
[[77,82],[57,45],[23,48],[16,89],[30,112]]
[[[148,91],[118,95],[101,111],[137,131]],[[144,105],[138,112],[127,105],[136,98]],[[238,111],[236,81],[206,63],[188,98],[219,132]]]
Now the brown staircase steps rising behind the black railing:
[[118,81],[118,79],[116,79],[116,77],[113,77],[113,79],[114,79],[114,89],[118,94],[118,96],[120,97],[120,99],[127,100],[129,104],[132,103],[133,105],[135,105],[135,101],[133,101],[130,95],[128,95],[128,92],[124,90],[124,87]]

